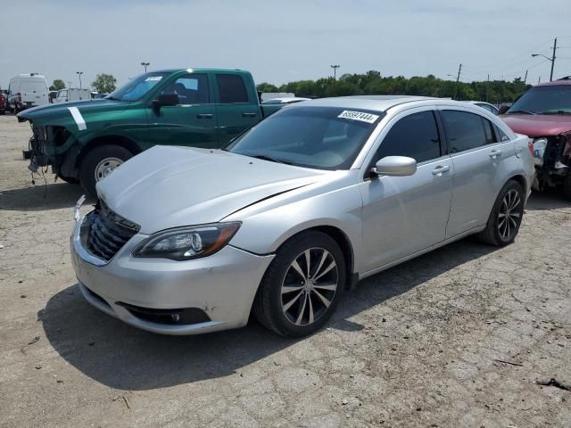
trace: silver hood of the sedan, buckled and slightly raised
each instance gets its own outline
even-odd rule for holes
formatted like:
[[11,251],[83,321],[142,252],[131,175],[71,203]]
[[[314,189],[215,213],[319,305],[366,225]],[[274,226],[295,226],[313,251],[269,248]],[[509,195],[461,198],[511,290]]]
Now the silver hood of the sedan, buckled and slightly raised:
[[220,221],[261,200],[310,185],[329,171],[220,150],[155,146],[97,183],[111,210],[141,233]]

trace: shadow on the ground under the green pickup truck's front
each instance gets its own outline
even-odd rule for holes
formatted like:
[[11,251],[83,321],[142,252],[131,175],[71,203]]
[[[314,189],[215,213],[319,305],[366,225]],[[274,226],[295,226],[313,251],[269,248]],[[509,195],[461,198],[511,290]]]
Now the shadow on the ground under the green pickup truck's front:
[[21,189],[0,190],[0,210],[39,211],[71,208],[84,193],[80,185],[45,184],[42,178],[36,183]]

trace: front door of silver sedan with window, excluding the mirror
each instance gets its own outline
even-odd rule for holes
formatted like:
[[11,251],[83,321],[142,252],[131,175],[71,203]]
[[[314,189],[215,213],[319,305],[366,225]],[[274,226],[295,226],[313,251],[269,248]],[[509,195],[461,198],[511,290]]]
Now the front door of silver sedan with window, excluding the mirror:
[[451,205],[453,170],[434,111],[405,111],[387,128],[367,170],[385,156],[408,156],[417,172],[360,184],[367,271],[441,243]]

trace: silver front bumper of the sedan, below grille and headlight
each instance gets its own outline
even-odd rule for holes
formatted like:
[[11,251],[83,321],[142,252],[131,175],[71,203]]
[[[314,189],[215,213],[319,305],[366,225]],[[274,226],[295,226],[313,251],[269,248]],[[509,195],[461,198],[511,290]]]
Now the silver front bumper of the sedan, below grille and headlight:
[[246,325],[258,285],[273,255],[227,245],[203,259],[131,256],[148,235],[137,234],[108,262],[82,246],[78,216],[71,261],[79,289],[95,308],[128,325],[162,334],[197,334]]

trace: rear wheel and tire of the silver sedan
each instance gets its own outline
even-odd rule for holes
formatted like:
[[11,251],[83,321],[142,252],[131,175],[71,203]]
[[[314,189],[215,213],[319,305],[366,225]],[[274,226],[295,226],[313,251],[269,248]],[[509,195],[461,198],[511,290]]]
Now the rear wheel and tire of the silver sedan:
[[503,247],[513,243],[524,217],[524,188],[516,180],[509,180],[502,188],[485,229],[476,235],[480,241]]

